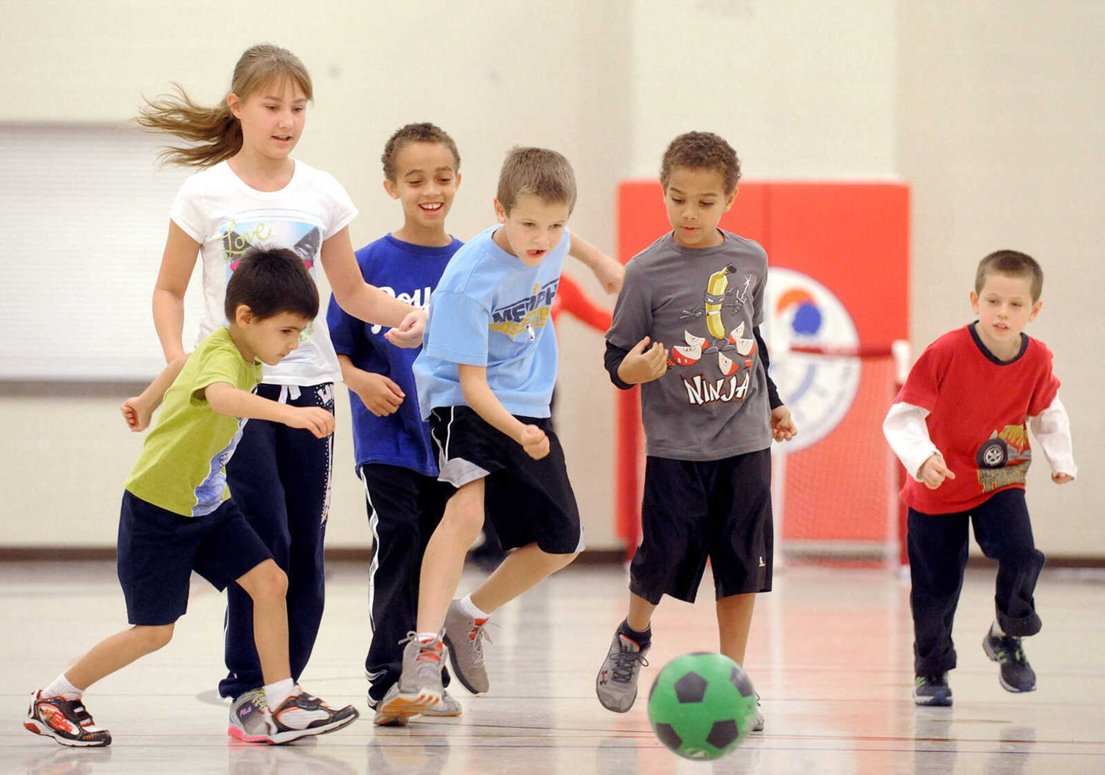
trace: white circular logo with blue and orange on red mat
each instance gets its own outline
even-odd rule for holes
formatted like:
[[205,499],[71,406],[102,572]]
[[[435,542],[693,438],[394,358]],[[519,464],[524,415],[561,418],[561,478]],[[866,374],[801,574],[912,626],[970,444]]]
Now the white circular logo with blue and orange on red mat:
[[[794,416],[789,452],[825,438],[840,425],[860,388],[860,336],[832,291],[809,275],[771,268],[764,291],[764,334],[771,379]],[[817,352],[796,352],[808,347]]]

